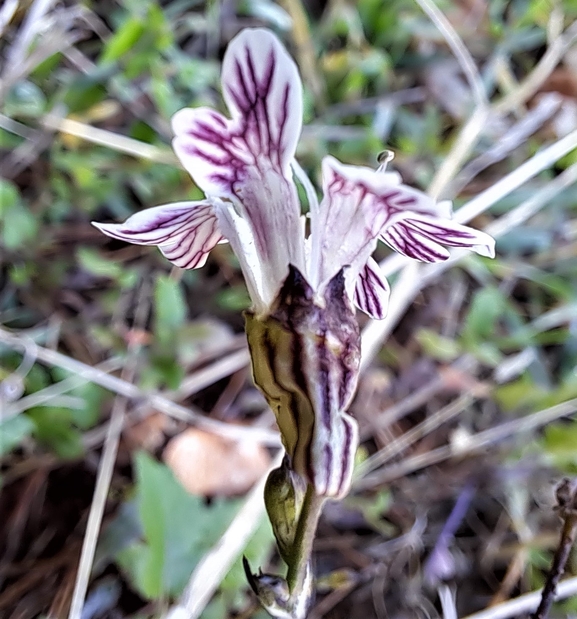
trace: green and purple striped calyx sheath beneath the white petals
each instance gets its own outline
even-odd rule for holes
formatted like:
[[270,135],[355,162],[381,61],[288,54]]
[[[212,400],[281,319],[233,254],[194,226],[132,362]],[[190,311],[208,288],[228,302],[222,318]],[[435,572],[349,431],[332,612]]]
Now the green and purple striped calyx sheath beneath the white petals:
[[319,302],[291,266],[267,316],[246,313],[255,384],[273,410],[291,468],[317,495],[351,481],[357,424],[346,414],[356,386],[360,334],[341,270]]

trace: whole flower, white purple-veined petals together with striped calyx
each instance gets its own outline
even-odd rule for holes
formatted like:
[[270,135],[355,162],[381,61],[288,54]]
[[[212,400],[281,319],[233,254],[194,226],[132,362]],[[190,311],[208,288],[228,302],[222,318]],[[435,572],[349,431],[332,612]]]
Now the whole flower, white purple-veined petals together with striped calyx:
[[[424,262],[446,260],[445,246],[492,256],[494,241],[450,221],[450,203],[403,185],[384,166],[326,157],[319,203],[295,160],[298,70],[268,30],[243,30],[231,41],[222,88],[230,118],[196,108],[172,120],[174,150],[206,198],[94,225],[117,239],[157,245],[182,268],[202,266],[217,243],[230,242],[253,304],[246,314],[253,376],[291,467],[319,496],[340,497],[350,485],[358,433],[345,412],[360,361],[353,303],[373,318],[383,318],[388,303],[387,281],[371,258],[378,240]],[[308,198],[308,236],[295,177]]]

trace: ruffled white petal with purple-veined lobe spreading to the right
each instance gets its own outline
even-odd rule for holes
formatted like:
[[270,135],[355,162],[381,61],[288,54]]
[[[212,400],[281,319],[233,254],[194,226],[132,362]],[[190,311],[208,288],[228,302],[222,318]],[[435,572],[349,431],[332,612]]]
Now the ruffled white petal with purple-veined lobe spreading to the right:
[[[494,255],[494,240],[483,232],[453,223],[451,203],[435,202],[402,185],[397,174],[323,161],[325,197],[311,213],[311,280],[326,281],[342,266],[356,282],[379,237],[404,256],[423,262],[449,258],[444,247],[467,247]],[[358,293],[356,293],[358,294]]]

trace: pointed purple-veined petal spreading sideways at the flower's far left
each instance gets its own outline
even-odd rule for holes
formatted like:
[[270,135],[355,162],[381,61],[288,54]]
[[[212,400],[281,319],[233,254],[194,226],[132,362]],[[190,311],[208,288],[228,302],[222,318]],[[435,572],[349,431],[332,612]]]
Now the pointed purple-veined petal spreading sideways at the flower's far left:
[[209,202],[177,202],[140,211],[122,224],[92,222],[108,236],[136,245],[157,245],[176,266],[196,269],[223,242]]

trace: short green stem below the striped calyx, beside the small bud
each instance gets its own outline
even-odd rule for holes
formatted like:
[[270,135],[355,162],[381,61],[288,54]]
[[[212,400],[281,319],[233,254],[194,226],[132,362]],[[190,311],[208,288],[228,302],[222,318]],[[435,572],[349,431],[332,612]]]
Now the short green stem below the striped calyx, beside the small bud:
[[313,486],[309,484],[297,525],[287,572],[289,591],[291,598],[295,600],[304,593],[306,587],[306,576],[311,562],[313,541],[324,502],[324,497],[318,496]]

